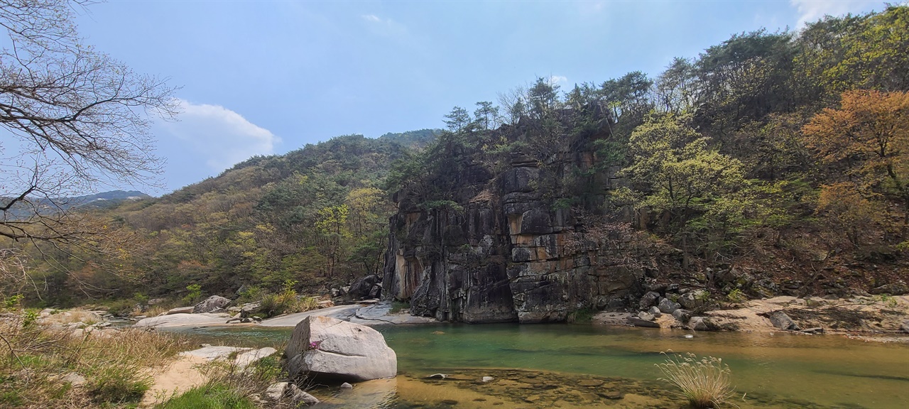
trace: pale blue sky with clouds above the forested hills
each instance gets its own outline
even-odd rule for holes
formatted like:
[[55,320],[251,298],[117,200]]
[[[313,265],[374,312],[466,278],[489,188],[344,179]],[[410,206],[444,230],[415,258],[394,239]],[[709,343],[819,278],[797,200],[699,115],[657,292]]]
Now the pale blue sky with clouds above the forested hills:
[[338,135],[443,127],[455,106],[550,77],[564,91],[659,75],[736,33],[797,30],[884,2],[117,1],[80,11],[80,34],[135,72],[179,86],[157,121],[163,195],[253,155]]

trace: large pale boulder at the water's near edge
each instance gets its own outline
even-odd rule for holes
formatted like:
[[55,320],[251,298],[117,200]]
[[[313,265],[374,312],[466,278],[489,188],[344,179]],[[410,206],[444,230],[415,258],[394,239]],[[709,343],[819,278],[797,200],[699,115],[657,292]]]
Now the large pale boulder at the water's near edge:
[[397,355],[378,331],[326,316],[308,316],[294,328],[285,354],[296,374],[362,382],[397,374]]

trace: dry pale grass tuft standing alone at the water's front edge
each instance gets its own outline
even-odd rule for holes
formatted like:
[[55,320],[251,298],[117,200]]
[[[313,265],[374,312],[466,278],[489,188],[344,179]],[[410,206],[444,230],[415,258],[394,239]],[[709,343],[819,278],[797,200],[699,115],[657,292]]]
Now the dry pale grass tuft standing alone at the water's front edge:
[[674,394],[684,396],[696,408],[717,408],[729,403],[734,388],[729,380],[729,365],[723,364],[723,359],[713,356],[698,359],[695,354],[666,356],[666,361],[656,366],[665,375],[660,379],[682,391]]

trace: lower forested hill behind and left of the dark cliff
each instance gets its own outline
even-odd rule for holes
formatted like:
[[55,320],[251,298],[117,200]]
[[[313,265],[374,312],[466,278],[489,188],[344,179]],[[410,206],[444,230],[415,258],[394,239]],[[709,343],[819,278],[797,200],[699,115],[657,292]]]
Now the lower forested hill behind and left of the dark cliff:
[[33,275],[48,283],[46,303],[67,304],[86,292],[170,295],[199,284],[206,294],[231,294],[243,285],[278,288],[291,280],[315,288],[375,273],[391,211],[382,190],[388,166],[405,146],[425,145],[433,135],[425,129],[377,139],[338,136],[253,157],[160,198],[95,212],[113,218],[116,234],[109,238],[118,250],[71,249],[75,257],[36,262]]

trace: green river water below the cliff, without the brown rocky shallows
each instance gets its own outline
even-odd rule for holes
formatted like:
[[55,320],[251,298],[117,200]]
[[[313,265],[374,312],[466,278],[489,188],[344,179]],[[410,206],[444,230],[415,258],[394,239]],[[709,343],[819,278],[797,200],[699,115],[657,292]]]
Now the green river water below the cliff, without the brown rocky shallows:
[[[437,324],[375,327],[413,378],[464,368],[660,377],[664,351],[723,358],[738,394],[796,406],[909,408],[909,345],[836,335],[697,333],[589,324]],[[221,344],[274,345],[290,330],[200,328]],[[441,334],[440,334],[441,333]],[[667,386],[668,387],[668,386]]]

